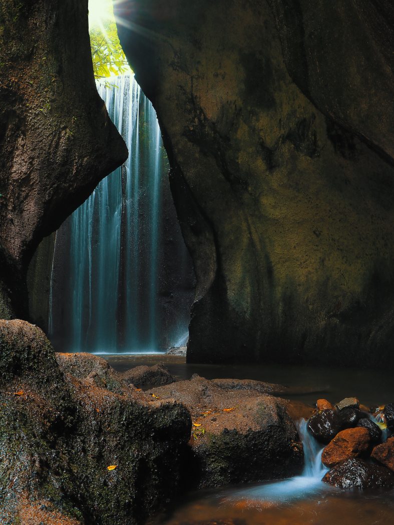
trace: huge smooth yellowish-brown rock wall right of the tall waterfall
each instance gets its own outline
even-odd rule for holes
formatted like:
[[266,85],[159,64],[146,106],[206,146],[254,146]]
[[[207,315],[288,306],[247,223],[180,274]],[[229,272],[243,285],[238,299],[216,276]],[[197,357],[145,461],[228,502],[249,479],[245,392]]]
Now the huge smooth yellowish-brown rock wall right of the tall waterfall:
[[196,270],[189,362],[394,363],[392,12],[380,4],[115,6]]

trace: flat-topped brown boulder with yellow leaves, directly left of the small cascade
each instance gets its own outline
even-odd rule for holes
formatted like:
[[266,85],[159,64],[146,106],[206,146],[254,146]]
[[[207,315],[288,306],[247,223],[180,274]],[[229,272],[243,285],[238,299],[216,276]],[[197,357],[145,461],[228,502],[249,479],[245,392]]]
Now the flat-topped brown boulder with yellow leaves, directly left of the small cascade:
[[146,392],[176,400],[191,413],[191,481],[217,487],[299,473],[303,450],[286,402],[246,389],[225,389],[194,375]]

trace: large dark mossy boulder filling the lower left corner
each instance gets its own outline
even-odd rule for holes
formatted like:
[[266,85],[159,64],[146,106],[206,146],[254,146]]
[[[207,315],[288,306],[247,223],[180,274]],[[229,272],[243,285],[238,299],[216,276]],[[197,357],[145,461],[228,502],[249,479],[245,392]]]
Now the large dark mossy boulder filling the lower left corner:
[[0,523],[146,522],[185,485],[189,412],[109,390],[96,356],[57,357],[34,325],[0,321]]

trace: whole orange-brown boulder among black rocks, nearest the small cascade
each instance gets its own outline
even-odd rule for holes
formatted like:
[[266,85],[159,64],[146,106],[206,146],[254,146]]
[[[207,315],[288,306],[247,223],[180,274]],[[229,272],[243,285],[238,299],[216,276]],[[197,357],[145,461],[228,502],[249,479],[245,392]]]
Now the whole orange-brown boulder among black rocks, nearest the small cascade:
[[347,428],[342,430],[323,450],[323,465],[333,467],[345,459],[364,454],[368,450],[370,440],[371,438],[366,428]]

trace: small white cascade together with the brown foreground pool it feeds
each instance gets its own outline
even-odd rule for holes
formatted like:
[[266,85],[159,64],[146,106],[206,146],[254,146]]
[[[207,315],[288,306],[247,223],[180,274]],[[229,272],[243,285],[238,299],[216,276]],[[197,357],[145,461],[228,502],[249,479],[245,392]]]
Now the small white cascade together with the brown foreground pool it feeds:
[[306,421],[298,425],[304,445],[303,474],[258,485],[196,493],[165,525],[372,525],[394,521],[394,491],[343,491],[321,481],[322,448]]

